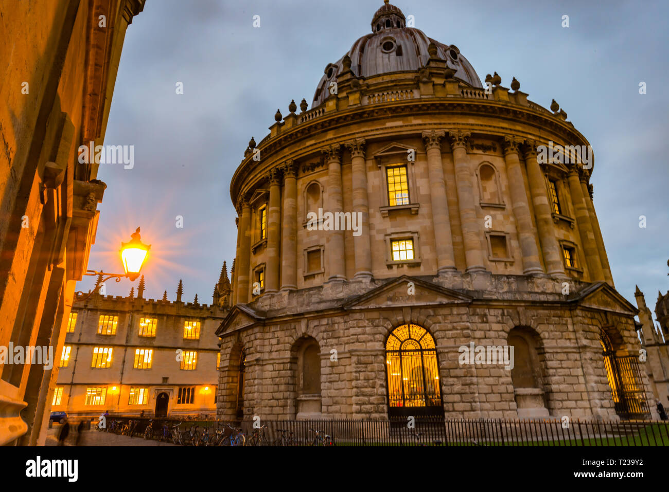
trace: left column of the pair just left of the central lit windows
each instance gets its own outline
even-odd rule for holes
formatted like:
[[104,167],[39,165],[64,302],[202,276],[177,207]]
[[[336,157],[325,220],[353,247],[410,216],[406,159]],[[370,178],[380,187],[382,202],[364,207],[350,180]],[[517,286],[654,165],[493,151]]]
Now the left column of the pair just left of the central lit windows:
[[[330,145],[322,150],[328,164],[327,210],[334,217],[343,212],[341,184],[341,145]],[[341,227],[337,227],[341,229]],[[344,231],[326,231],[325,247],[328,255],[330,277],[328,281],[346,280],[346,261],[344,251]]]

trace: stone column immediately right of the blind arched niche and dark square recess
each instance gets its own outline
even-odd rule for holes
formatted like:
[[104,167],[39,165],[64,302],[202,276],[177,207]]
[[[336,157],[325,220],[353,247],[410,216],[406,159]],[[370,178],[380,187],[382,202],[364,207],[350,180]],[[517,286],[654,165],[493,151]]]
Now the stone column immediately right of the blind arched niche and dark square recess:
[[535,239],[535,231],[532,227],[532,216],[528,205],[527,193],[525,193],[525,184],[522,179],[522,169],[520,168],[520,150],[521,140],[514,136],[505,135],[504,142],[504,161],[506,162],[506,173],[508,174],[508,187],[511,194],[511,205],[513,215],[516,218],[516,227],[518,227],[518,241],[520,242],[520,253],[522,254],[522,273],[524,275],[536,275],[543,273],[541,260],[539,259],[539,249]]

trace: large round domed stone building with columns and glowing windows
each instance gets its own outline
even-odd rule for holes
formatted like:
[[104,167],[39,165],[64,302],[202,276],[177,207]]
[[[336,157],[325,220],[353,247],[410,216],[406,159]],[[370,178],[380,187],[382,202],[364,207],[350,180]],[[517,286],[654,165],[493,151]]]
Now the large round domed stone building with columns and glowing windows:
[[231,180],[218,415],[654,416],[585,136],[399,8],[371,27]]

